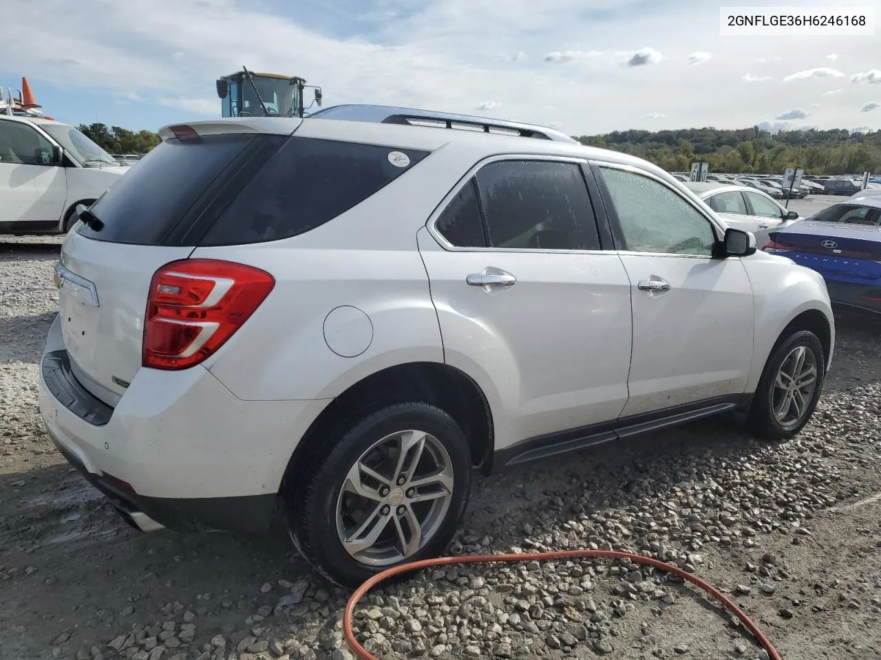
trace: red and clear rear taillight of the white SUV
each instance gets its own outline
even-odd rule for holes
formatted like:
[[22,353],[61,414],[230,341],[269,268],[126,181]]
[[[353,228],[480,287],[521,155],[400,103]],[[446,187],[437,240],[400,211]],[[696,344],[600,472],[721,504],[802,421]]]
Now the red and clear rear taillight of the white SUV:
[[144,366],[176,370],[202,362],[274,286],[269,273],[232,261],[185,259],[159,268],[147,297]]

